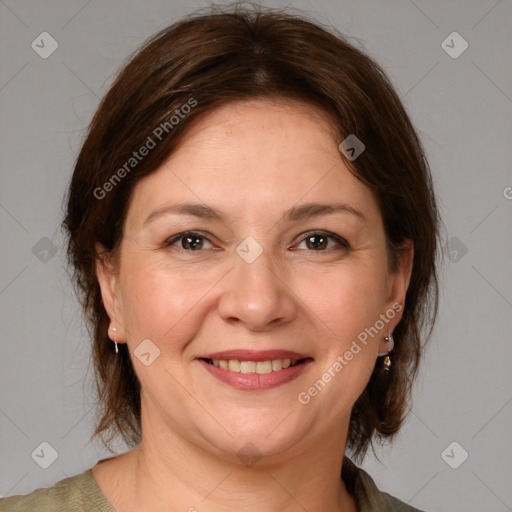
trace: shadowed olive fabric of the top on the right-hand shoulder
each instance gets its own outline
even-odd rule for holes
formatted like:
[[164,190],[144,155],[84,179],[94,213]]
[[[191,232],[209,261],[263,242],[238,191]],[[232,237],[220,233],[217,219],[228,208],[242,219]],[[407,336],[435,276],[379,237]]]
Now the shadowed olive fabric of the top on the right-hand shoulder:
[[355,496],[358,512],[423,512],[379,490],[373,478],[350,459],[343,459],[343,479]]

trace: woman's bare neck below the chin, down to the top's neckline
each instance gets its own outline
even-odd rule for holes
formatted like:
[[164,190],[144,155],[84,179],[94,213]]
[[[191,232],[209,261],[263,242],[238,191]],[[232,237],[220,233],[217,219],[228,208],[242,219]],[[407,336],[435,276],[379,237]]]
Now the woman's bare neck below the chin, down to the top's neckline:
[[346,431],[289,453],[246,459],[214,453],[168,428],[161,435],[149,424],[158,422],[143,421],[143,441],[130,457],[130,509],[356,510],[341,479]]

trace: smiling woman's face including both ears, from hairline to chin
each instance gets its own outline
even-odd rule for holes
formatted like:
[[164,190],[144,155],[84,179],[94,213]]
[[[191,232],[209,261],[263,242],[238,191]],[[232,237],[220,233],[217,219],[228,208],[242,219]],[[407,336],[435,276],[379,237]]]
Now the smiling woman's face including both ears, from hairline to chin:
[[236,457],[339,438],[409,275],[410,260],[389,272],[377,202],[317,110],[253,100],[198,119],[135,187],[100,272],[143,440]]

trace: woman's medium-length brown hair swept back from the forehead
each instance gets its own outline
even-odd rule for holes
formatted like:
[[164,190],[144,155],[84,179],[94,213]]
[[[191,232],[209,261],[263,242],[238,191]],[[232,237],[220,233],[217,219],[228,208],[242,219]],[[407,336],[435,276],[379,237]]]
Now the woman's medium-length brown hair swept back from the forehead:
[[[356,160],[346,161],[377,198],[390,271],[398,268],[405,239],[415,251],[392,367],[385,372],[376,364],[355,403],[349,449],[362,457],[375,437],[392,438],[408,411],[422,339],[430,337],[438,308],[440,220],[421,143],[385,73],[342,35],[300,16],[235,5],[193,14],[149,39],[101,101],[76,161],[63,226],[93,335],[99,407],[92,437],[107,446],[118,434],[129,445],[140,442],[140,384],[126,345],[116,355],[107,334],[95,243],[116,253],[134,186],[168,157],[193,119],[253,98],[312,104],[328,115],[338,142],[355,134],[365,144]],[[194,108],[183,108],[187,103]],[[173,115],[179,121],[170,121]],[[128,167],[159,127],[165,136]]]

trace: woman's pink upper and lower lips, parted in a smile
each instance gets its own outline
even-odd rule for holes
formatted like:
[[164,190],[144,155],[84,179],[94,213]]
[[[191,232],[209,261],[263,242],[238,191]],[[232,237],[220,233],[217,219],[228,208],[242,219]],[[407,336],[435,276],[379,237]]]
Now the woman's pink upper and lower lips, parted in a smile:
[[[272,359],[291,359],[292,362],[301,361],[295,366],[283,368],[282,370],[257,374],[240,373],[229,369],[219,368],[208,363],[207,359],[229,360],[238,359],[241,361],[267,361]],[[215,352],[198,359],[199,363],[211,375],[231,387],[243,391],[259,391],[275,388],[297,378],[313,362],[311,357],[289,350],[228,350]]]

